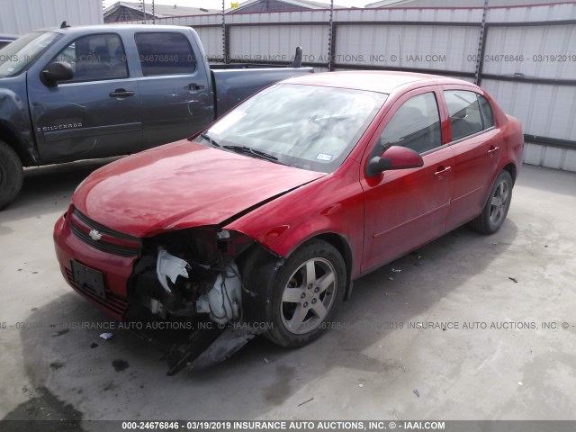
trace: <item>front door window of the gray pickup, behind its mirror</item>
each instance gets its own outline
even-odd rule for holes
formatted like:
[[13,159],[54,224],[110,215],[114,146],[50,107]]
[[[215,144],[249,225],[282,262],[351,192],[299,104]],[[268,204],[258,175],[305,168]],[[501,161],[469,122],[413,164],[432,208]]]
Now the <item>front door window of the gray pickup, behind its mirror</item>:
[[120,36],[91,34],[74,40],[52,59],[72,66],[71,81],[97,81],[128,77],[126,54]]

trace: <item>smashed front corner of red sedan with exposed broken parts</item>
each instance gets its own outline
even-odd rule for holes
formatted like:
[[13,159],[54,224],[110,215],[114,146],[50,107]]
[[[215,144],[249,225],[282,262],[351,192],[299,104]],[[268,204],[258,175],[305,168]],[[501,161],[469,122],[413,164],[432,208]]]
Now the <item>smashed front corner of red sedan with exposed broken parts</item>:
[[221,361],[265,331],[251,325],[262,291],[248,287],[284,260],[253,238],[204,226],[145,238],[141,250],[124,320],[166,350],[168,374]]

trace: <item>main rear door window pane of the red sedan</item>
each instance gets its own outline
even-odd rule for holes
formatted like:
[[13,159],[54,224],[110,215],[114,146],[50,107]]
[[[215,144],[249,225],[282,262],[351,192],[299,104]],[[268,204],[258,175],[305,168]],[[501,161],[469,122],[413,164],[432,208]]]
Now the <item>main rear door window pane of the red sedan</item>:
[[462,139],[485,128],[482,126],[482,115],[477,94],[464,90],[446,90],[446,105],[452,126],[452,139]]

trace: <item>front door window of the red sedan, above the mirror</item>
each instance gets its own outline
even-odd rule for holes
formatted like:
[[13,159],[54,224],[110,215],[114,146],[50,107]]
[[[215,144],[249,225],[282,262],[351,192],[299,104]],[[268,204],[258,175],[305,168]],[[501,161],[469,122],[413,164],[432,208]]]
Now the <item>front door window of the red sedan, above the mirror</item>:
[[376,146],[381,156],[385,148],[402,146],[417,153],[442,145],[440,115],[434,93],[419,94],[403,103],[386,125]]

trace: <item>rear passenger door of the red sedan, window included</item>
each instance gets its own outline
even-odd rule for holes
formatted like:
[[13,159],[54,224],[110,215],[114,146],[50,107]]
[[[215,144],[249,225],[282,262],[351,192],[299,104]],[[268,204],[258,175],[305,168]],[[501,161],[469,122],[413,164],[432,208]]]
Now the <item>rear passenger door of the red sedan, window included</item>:
[[501,154],[500,131],[488,100],[470,87],[444,87],[446,111],[455,153],[455,177],[448,229],[473,219],[482,211],[491,178]]

